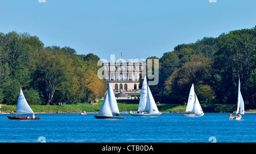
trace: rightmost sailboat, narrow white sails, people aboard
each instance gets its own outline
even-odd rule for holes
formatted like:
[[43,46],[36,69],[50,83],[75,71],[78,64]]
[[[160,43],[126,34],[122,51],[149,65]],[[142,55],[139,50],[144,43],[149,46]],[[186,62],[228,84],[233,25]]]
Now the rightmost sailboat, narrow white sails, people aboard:
[[[240,114],[238,114],[240,113]],[[238,81],[238,98],[237,98],[237,113],[236,116],[230,116],[230,120],[240,120],[242,118],[241,114],[245,114],[245,103],[243,102],[243,97],[240,91],[240,78]]]

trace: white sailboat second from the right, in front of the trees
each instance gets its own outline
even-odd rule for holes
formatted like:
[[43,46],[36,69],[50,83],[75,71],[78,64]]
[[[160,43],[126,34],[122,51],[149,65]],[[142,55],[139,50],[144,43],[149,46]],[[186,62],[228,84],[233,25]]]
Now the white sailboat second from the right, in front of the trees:
[[203,116],[204,115],[202,107],[201,107],[199,100],[195,93],[194,84],[192,84],[190,92],[189,92],[186,112],[194,112],[194,114],[187,113],[187,114],[183,114],[183,115],[185,115],[185,116]]

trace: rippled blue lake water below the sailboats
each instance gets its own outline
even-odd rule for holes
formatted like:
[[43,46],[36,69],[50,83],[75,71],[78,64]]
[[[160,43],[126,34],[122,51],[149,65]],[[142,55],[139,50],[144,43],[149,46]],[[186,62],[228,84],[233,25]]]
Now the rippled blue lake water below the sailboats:
[[229,120],[229,114],[207,113],[199,117],[175,113],[155,117],[119,115],[126,119],[96,119],[94,115],[36,114],[41,120],[9,120],[2,114],[0,142],[256,142],[256,114],[242,115],[242,120]]

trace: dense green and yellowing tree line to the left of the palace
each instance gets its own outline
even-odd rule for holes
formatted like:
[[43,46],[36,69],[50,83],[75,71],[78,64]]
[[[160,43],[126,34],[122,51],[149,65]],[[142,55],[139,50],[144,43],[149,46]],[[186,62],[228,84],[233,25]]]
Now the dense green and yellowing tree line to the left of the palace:
[[35,105],[89,102],[102,97],[106,82],[97,78],[96,55],[44,47],[36,36],[0,33],[0,103],[15,105],[19,88]]

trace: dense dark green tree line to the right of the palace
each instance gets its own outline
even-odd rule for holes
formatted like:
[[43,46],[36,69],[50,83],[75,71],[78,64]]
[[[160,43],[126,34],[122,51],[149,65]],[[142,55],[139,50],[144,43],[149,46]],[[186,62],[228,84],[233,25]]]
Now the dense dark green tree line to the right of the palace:
[[254,104],[255,53],[256,27],[177,45],[159,59],[159,84],[151,91],[161,102],[181,103],[194,84],[201,102],[237,103],[240,77],[244,101]]

